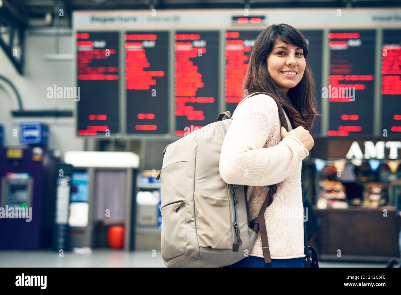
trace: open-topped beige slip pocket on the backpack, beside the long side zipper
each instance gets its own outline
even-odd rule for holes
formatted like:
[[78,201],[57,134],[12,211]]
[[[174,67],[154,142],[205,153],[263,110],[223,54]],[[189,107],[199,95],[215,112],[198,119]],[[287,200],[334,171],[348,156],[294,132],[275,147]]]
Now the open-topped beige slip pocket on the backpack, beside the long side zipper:
[[230,200],[194,193],[196,235],[199,247],[233,248]]

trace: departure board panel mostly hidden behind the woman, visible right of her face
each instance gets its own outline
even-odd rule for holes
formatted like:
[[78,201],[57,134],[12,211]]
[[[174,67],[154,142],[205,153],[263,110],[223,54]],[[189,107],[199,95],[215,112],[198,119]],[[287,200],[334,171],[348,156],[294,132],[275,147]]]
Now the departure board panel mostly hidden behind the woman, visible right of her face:
[[[310,68],[315,79],[315,97],[318,107],[318,113],[322,115],[321,98],[322,98],[322,30],[305,30],[302,31],[305,36],[306,43],[308,43],[308,61]],[[312,136],[321,134],[322,117],[316,117],[312,127]]]

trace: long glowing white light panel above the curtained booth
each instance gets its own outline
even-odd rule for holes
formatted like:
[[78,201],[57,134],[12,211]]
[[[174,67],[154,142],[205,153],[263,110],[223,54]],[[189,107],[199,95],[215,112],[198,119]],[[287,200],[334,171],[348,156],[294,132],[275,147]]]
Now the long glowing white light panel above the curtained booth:
[[132,152],[69,151],[64,162],[74,167],[138,168],[139,156]]

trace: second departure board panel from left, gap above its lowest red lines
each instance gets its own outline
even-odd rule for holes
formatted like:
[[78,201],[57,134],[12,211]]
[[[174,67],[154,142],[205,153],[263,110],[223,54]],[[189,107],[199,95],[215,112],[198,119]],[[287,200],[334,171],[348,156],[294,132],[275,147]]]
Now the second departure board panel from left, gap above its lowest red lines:
[[168,32],[126,32],[127,133],[168,133]]

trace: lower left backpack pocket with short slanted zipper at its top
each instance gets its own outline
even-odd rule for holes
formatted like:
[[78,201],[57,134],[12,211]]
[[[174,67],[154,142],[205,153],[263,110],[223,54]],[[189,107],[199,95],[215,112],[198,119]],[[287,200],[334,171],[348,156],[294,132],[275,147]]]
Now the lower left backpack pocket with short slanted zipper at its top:
[[186,251],[185,200],[168,204],[162,213],[161,252],[163,258],[173,258]]

